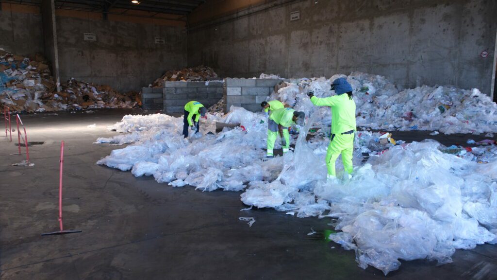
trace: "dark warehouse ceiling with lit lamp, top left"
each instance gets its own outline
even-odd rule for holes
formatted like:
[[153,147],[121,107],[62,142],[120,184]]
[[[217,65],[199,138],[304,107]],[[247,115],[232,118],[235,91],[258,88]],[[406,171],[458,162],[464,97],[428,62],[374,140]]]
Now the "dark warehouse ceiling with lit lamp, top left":
[[[2,0],[3,2],[15,4],[40,5],[41,0]],[[205,0],[55,0],[56,9],[72,9],[93,12],[109,12],[110,9],[118,9],[120,13],[129,11],[150,12],[154,14],[176,14],[187,15]]]

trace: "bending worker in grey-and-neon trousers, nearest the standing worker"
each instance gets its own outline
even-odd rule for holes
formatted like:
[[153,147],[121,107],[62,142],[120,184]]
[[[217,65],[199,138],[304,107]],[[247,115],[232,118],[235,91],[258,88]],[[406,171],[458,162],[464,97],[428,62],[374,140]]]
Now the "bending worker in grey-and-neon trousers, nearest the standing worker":
[[[266,157],[273,157],[274,142],[278,137],[278,131],[281,138],[281,147],[283,148],[283,153],[286,153],[290,147],[290,135],[288,134],[288,127],[292,124],[304,125],[305,119],[304,112],[298,112],[292,108],[281,108],[275,110],[269,116],[269,122],[267,124],[267,153]],[[286,132],[286,133],[285,133]]]

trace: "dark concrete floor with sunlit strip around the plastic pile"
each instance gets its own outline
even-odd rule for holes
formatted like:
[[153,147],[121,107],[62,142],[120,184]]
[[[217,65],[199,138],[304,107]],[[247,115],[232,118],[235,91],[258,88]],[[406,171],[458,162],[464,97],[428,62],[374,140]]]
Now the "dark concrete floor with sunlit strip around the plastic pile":
[[[385,279],[362,270],[353,251],[326,242],[329,219],[299,219],[272,209],[240,212],[239,192],[172,188],[152,176],[94,163],[121,148],[93,145],[131,110],[23,116],[31,167],[10,166],[14,142],[0,139],[1,279]],[[86,126],[96,124],[90,129]],[[427,138],[394,132],[394,138]],[[438,136],[445,144],[474,136]],[[57,230],[58,161],[65,140],[64,225]],[[251,228],[238,217],[254,217]],[[308,236],[313,228],[318,234]],[[332,249],[332,247],[334,247]],[[497,246],[458,250],[451,264],[403,262],[389,279],[497,279]]]

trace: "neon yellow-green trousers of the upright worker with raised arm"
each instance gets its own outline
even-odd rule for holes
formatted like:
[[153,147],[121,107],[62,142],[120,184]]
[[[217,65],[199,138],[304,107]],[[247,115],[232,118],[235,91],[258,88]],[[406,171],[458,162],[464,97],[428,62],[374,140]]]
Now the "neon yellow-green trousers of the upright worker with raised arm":
[[328,175],[336,176],[335,161],[342,155],[343,169],[352,173],[352,153],[354,151],[354,134],[332,134],[328,151],[326,152],[326,167]]

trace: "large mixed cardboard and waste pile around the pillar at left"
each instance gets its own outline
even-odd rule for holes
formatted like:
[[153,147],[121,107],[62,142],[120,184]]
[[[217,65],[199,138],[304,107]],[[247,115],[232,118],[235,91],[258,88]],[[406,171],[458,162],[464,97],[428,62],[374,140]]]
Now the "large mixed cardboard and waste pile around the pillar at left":
[[28,58],[0,49],[0,102],[12,112],[132,108],[141,104],[136,92],[123,95],[109,86],[75,79],[62,84],[61,89],[57,92],[42,55]]

